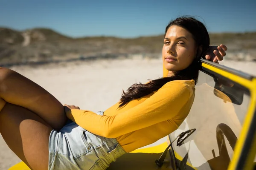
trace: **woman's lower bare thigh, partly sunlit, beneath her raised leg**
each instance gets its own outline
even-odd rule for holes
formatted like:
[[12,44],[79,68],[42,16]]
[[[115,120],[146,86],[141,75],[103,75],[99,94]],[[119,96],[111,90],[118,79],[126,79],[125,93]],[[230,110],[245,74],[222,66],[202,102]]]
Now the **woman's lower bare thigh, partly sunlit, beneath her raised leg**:
[[10,149],[33,170],[47,170],[52,130],[32,111],[6,103],[0,112],[0,133]]

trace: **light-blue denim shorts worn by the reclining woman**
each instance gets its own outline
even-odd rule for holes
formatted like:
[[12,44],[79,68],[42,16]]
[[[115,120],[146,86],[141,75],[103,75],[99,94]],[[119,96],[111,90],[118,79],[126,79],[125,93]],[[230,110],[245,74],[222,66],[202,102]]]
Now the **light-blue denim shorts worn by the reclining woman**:
[[60,131],[50,133],[48,169],[105,170],[125,153],[115,138],[95,135],[69,121]]

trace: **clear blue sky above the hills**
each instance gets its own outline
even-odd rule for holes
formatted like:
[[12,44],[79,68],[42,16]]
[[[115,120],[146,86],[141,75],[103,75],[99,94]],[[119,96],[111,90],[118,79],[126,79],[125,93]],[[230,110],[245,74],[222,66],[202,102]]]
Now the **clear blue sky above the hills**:
[[70,37],[159,35],[182,15],[198,16],[209,32],[256,31],[256,0],[0,0],[0,27]]

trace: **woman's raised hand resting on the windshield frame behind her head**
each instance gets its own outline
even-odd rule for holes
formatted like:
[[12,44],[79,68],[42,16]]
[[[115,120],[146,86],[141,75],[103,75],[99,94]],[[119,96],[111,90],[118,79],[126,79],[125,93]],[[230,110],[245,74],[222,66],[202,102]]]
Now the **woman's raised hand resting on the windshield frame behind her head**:
[[218,61],[223,60],[223,57],[226,56],[225,51],[227,51],[226,45],[210,46],[206,52],[205,58],[209,61],[218,63]]

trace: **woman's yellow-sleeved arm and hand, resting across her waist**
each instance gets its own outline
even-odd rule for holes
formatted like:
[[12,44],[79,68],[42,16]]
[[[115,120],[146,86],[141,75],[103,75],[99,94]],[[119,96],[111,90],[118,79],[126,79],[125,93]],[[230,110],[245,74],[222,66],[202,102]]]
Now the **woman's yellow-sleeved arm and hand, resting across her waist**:
[[92,111],[72,109],[67,117],[99,136],[116,138],[168,119],[186,105],[189,88],[181,82],[169,82],[144,102],[114,116],[97,115]]

